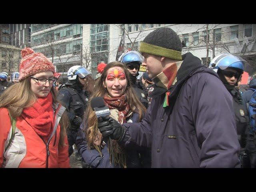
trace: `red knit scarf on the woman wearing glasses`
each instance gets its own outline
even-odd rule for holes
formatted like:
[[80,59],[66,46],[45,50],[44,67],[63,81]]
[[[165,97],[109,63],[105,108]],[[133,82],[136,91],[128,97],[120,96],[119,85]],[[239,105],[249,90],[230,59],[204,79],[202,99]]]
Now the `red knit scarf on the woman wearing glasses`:
[[38,98],[33,106],[24,108],[21,116],[47,142],[53,129],[53,113],[50,92],[47,97]]

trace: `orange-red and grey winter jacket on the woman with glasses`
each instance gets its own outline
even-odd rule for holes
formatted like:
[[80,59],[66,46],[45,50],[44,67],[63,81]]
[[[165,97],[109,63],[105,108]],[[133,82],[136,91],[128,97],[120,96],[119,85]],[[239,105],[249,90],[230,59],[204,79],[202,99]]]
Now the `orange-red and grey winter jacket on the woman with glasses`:
[[0,167],[70,168],[67,136],[64,138],[64,147],[58,145],[59,122],[65,108],[56,104],[53,104],[53,108],[56,109],[54,128],[48,143],[45,143],[22,116],[19,116],[16,118],[14,138],[6,151],[4,150],[10,141],[12,126],[8,110],[0,108]]

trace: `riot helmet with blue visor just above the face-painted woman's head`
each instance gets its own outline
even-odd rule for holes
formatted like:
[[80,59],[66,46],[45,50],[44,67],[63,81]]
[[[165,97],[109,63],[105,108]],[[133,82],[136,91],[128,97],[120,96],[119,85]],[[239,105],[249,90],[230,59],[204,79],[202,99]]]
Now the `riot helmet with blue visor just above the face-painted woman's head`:
[[123,54],[118,61],[122,64],[131,65],[137,64],[138,70],[140,70],[140,64],[143,62],[144,57],[138,51],[129,51]]

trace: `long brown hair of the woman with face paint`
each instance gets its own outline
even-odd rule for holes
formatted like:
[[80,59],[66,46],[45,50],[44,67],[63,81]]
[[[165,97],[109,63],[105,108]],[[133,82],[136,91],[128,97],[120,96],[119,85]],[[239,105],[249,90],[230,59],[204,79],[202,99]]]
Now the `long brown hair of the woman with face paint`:
[[[95,112],[92,110],[92,106],[90,105],[91,100],[94,97],[104,97],[105,95],[108,94],[107,89],[104,87],[103,82],[106,81],[106,77],[108,75],[108,70],[112,67],[121,67],[122,70],[125,73],[126,79],[127,79],[127,86],[126,90],[124,91],[124,94],[126,95],[128,104],[130,105],[130,110],[132,112],[138,112],[139,114],[139,121],[142,120],[143,114],[146,112],[146,108],[142,105],[140,100],[137,98],[137,95],[134,91],[134,89],[131,86],[131,82],[129,79],[129,72],[126,69],[126,66],[120,62],[111,62],[106,65],[104,68],[102,75],[100,78],[96,81],[95,87],[94,87],[94,92],[92,96],[90,97],[88,101],[88,106],[84,115],[84,127],[83,130],[86,132],[86,140],[88,142],[88,146],[92,146],[94,142],[94,137],[96,136],[96,130],[93,128],[95,123],[97,123],[97,117]],[[136,107],[136,108],[134,108]]]

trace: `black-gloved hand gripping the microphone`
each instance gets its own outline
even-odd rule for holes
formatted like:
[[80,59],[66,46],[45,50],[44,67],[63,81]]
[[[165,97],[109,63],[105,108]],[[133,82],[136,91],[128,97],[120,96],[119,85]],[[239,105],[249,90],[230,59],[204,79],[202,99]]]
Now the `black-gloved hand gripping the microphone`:
[[125,132],[125,128],[109,116],[98,118],[98,128],[103,137],[110,136],[110,138],[119,141],[122,140]]

